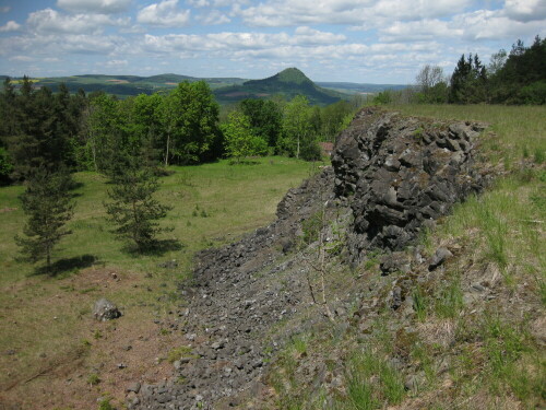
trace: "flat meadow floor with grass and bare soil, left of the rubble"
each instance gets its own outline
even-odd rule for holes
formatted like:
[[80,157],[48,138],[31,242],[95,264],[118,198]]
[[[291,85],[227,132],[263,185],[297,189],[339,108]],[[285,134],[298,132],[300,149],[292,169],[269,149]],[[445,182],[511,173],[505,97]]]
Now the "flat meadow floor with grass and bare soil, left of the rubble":
[[[1,188],[0,367],[10,368],[10,372],[0,372],[0,405],[2,400],[9,402],[21,396],[22,391],[26,395],[22,395],[21,400],[28,400],[27,406],[40,402],[44,408],[54,408],[63,399],[68,400],[70,394],[59,393],[55,402],[54,398],[41,397],[35,390],[62,382],[59,368],[71,361],[78,362],[73,364],[72,373],[79,372],[80,384],[84,386],[80,388],[91,395],[83,394],[84,397],[73,406],[90,408],[88,400],[94,400],[99,391],[123,388],[119,383],[116,385],[116,377],[120,376],[112,377],[108,370],[99,366],[99,363],[115,360],[100,356],[97,352],[102,349],[107,351],[112,344],[120,345],[131,340],[135,345],[134,340],[143,335],[151,338],[153,342],[141,353],[144,358],[141,358],[140,366],[145,372],[154,367],[153,363],[144,366],[146,359],[153,359],[153,354],[161,358],[169,345],[180,343],[169,332],[158,333],[159,329],[150,329],[145,324],[152,324],[154,315],[165,316],[169,311],[169,296],[177,279],[190,271],[193,253],[230,242],[272,221],[278,200],[309,173],[309,165],[296,160],[266,157],[258,161],[256,165],[228,165],[227,161],[221,161],[193,167],[173,167],[175,173],[163,178],[157,198],[174,207],[165,223],[175,231],[167,237],[178,238],[182,249],[161,256],[132,257],[122,251],[122,244],[108,232],[105,220],[102,203],[106,200],[108,186],[104,178],[94,173],[76,174],[75,179],[82,186],[75,191],[78,203],[70,222],[73,234],[61,242],[55,257],[70,259],[88,255],[96,261],[91,268],[74,268],[57,278],[33,276],[33,266],[15,260],[17,249],[13,236],[21,233],[24,223],[17,201],[23,188]],[[173,259],[179,262],[177,269],[157,267],[158,262]],[[112,280],[112,273],[116,280]],[[123,306],[124,319],[119,321],[117,330],[91,319],[91,307],[103,295]],[[100,343],[105,342],[100,335],[97,338],[97,331],[109,340],[105,347],[102,347]],[[135,349],[131,353],[138,358]],[[8,351],[14,353],[4,354]],[[129,361],[131,358],[118,360]],[[108,366],[114,368],[115,364]],[[40,373],[44,376],[24,384]],[[86,386],[85,379],[92,374],[97,374],[105,383],[95,388]],[[133,379],[140,377],[138,374],[132,376],[135,376]],[[2,398],[2,390],[17,382],[4,391]],[[29,393],[36,393],[36,396],[33,398]]]

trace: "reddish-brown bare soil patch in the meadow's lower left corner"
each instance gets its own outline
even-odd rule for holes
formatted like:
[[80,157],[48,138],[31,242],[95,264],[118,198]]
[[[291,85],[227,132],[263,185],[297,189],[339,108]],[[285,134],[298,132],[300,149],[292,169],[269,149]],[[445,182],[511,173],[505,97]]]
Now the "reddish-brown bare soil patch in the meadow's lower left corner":
[[[2,291],[25,294],[41,281],[31,278]],[[171,373],[165,358],[180,344],[179,336],[154,323],[154,317],[156,321],[159,317],[164,326],[168,313],[154,316],[153,307],[141,302],[118,304],[123,316],[112,321],[98,323],[91,314],[93,303],[103,295],[117,301],[115,294],[131,290],[138,294],[142,292],[139,288],[149,288],[142,274],[95,267],[56,281],[54,285],[61,290],[56,294],[47,289],[49,283],[44,281],[41,285],[44,294],[17,300],[17,309],[43,309],[51,316],[44,318],[50,327],[62,326],[66,318],[60,313],[79,315],[76,325],[70,326],[70,333],[58,336],[48,349],[39,345],[41,328],[37,324],[34,329],[23,328],[8,313],[11,319],[4,320],[2,332],[28,332],[24,338],[28,342],[0,352],[0,367],[8,370],[0,376],[0,408],[91,409],[105,396],[121,402],[130,382],[157,383]],[[54,312],[48,315],[48,309]]]

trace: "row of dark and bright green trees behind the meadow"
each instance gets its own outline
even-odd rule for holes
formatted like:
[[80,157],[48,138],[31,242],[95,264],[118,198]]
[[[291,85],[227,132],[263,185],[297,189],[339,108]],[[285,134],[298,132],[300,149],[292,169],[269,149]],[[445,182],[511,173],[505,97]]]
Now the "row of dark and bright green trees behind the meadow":
[[[318,142],[333,141],[357,107],[345,101],[313,107],[297,96],[290,102],[245,99],[224,109],[237,114],[222,115],[203,81],[127,99],[102,92],[71,95],[62,84],[57,93],[47,86],[36,90],[26,77],[20,83],[7,79],[0,93],[3,184],[24,180],[38,163],[111,175],[123,157],[135,156],[166,166],[240,157],[241,152],[318,160]],[[244,130],[238,138],[236,129]]]

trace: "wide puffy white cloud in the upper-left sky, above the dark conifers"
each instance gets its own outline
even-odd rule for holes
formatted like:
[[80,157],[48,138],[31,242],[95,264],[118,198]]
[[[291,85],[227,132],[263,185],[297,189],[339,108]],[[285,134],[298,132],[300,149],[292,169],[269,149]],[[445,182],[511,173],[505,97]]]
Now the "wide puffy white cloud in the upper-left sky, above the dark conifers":
[[27,19],[35,33],[99,34],[106,25],[126,25],[127,19],[114,20],[105,14],[61,14],[52,9],[38,10]]

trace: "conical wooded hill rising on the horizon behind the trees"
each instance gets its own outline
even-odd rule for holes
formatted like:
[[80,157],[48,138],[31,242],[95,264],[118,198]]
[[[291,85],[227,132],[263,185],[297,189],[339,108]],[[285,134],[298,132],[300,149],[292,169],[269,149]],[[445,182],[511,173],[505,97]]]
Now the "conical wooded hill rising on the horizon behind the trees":
[[238,102],[245,98],[269,98],[281,95],[286,99],[301,94],[311,104],[327,105],[340,101],[343,94],[318,86],[297,68],[288,68],[263,80],[249,80],[240,85],[214,90],[221,103]]

